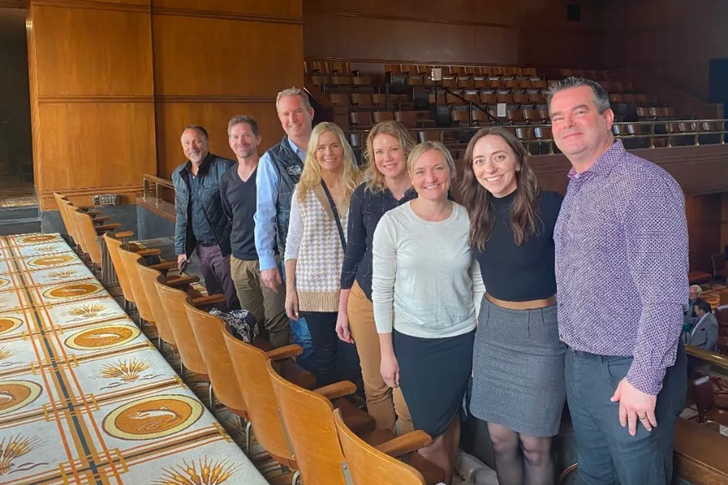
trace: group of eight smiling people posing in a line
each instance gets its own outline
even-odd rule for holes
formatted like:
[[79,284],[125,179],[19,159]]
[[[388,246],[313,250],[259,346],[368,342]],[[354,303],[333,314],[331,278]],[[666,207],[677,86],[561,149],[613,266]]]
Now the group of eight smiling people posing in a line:
[[668,484],[687,387],[684,196],[614,140],[600,84],[564,79],[548,103],[572,165],[563,198],[498,127],[472,137],[456,180],[444,145],[384,121],[362,170],[295,88],[260,158],[248,116],[229,121],[237,164],[188,127],[178,264],[196,253],[208,291],[274,345],[300,344],[320,385],[355,382],[377,428],[430,434],[419,453],[447,484],[467,412],[488,423],[501,485],[553,484],[565,401],[582,483]]

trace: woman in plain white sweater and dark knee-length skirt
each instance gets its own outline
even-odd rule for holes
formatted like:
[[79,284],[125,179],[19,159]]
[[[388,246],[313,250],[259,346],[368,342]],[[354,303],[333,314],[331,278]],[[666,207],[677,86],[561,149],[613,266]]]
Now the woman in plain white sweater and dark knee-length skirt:
[[407,164],[418,197],[384,214],[373,239],[381,375],[401,387],[414,428],[432,436],[419,452],[443,468],[449,484],[485,288],[467,213],[448,200],[455,164],[447,148],[421,143]]

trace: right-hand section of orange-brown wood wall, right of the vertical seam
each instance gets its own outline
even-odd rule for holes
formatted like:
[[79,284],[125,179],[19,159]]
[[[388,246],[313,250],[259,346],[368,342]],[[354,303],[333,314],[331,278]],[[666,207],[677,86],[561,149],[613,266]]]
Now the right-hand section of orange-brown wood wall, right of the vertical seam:
[[[210,150],[233,156],[227,121],[248,114],[263,147],[283,132],[275,96],[302,87],[301,0],[153,0],[157,170],[169,178],[184,160],[183,127],[201,124]],[[262,151],[261,151],[262,153]]]

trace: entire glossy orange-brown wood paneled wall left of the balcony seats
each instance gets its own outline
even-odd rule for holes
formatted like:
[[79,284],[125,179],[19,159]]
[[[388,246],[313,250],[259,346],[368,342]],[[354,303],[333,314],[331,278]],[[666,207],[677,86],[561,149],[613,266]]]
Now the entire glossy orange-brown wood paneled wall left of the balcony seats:
[[301,0],[31,0],[28,50],[36,187],[133,201],[143,174],[170,177],[183,127],[232,156],[227,121],[256,117],[280,140],[274,100],[303,85]]

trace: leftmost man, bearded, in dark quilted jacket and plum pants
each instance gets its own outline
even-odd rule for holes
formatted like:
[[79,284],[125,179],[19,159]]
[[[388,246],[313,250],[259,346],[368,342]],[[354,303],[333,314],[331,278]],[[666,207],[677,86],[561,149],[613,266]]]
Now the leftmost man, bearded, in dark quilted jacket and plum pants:
[[192,252],[208,294],[225,294],[228,310],[240,308],[230,277],[230,222],[220,199],[220,177],[232,160],[210,153],[203,127],[193,125],[182,132],[182,150],[187,161],[175,169],[175,253],[183,268]]

